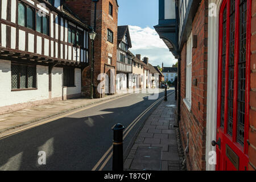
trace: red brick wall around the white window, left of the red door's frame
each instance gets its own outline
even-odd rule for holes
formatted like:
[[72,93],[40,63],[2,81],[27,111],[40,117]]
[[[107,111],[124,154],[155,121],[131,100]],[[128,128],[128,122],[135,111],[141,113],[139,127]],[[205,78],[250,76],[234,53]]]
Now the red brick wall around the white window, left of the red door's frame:
[[[208,1],[202,0],[193,19],[192,35],[197,35],[197,47],[192,49],[192,88],[191,112],[183,102],[186,85],[186,52],[184,45],[181,52],[181,120],[180,132],[183,147],[187,146],[187,168],[205,170],[205,129],[207,113],[207,43],[208,43]],[[193,80],[197,79],[197,85]]]

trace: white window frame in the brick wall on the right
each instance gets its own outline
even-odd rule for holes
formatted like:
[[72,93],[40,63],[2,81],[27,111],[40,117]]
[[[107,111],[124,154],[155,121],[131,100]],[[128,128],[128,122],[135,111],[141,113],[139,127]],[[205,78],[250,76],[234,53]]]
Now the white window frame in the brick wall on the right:
[[187,41],[187,69],[186,69],[186,97],[183,99],[188,110],[191,111],[192,86],[192,32]]

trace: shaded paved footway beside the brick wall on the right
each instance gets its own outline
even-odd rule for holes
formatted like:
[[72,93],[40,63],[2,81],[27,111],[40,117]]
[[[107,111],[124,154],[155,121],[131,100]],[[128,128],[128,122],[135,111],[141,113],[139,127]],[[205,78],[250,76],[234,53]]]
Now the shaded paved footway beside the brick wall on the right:
[[139,131],[127,158],[127,171],[179,171],[181,155],[178,150],[175,125],[175,94],[156,107]]

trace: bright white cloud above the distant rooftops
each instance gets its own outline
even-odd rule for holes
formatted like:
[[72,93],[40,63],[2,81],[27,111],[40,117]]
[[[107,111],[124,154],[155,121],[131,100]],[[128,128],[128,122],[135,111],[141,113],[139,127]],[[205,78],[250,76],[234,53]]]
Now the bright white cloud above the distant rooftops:
[[133,45],[130,51],[134,55],[141,54],[142,57],[146,56],[150,64],[160,65],[160,67],[162,67],[162,62],[164,67],[171,67],[172,64],[177,62],[154,29],[129,26],[129,31],[131,44]]

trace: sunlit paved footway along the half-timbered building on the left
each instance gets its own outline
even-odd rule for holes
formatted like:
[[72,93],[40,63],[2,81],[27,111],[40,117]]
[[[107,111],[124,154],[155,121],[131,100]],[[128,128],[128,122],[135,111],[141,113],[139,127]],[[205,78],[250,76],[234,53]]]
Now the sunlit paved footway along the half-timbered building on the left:
[[6,131],[29,125],[42,119],[50,118],[55,115],[63,114],[71,110],[79,109],[99,102],[112,100],[127,94],[114,94],[103,98],[79,98],[65,101],[50,102],[49,104],[28,107],[23,110],[11,113],[0,114],[0,134]]

